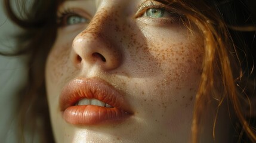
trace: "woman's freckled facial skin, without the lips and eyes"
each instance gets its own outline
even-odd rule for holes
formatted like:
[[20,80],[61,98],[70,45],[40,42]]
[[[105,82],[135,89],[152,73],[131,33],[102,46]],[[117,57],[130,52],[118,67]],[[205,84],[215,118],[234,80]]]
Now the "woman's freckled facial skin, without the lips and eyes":
[[[74,2],[85,11],[95,7]],[[143,18],[129,12],[136,11],[137,3],[101,1],[88,26],[58,29],[46,69],[56,142],[189,141],[201,77],[202,36],[196,30],[192,35],[178,22],[144,24]],[[120,125],[66,123],[58,110],[58,98],[66,83],[81,76],[98,77],[121,89],[134,115]]]

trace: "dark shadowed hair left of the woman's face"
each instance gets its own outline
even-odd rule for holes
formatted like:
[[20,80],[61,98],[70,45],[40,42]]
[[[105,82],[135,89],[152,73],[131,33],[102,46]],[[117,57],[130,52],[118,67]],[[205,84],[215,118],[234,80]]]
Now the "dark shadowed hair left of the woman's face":
[[[17,13],[12,10],[11,1],[4,2],[8,16],[21,27],[22,32],[16,37],[16,51],[0,52],[0,54],[6,56],[26,54],[29,57],[28,82],[20,92],[24,94],[19,94],[17,97],[20,101],[20,105],[17,106],[20,128],[18,138],[25,142],[24,130],[28,130],[31,136],[35,130],[38,130],[41,135],[40,141],[54,142],[45,97],[44,69],[48,52],[56,37],[55,13],[57,13],[58,1],[33,1],[32,4],[26,0],[16,1],[17,9],[21,7]],[[27,7],[28,5],[30,7]]]

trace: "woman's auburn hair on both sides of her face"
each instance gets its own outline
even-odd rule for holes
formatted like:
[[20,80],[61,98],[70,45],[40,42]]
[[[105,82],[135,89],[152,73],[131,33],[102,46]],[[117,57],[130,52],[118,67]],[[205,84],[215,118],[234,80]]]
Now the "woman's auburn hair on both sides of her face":
[[[192,142],[200,138],[202,119],[209,101],[216,105],[215,125],[220,107],[227,106],[238,130],[240,142],[256,142],[254,93],[254,33],[256,7],[253,1],[239,0],[158,0],[166,7],[174,7],[186,15],[187,28],[193,33],[192,25],[198,27],[205,41],[201,83],[196,94],[192,122]],[[47,107],[44,75],[45,61],[56,38],[57,8],[60,0],[37,0],[27,9],[26,0],[16,1],[21,15],[12,9],[10,0],[4,0],[7,14],[23,32],[17,36],[18,50],[2,55],[29,55],[29,81],[20,95],[21,138],[24,130],[39,130],[42,142],[54,142]],[[254,7],[253,7],[254,5]],[[42,77],[42,78],[39,78]],[[41,105],[38,105],[41,101]],[[44,101],[44,102],[42,102]],[[26,123],[26,119],[30,119]],[[33,119],[33,120],[31,120]],[[38,126],[41,119],[44,126]]]

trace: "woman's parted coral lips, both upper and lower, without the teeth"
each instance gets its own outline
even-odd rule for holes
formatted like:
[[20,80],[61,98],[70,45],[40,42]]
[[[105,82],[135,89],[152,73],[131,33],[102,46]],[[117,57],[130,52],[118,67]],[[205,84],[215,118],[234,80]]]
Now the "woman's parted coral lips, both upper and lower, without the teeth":
[[[76,105],[84,98],[100,100],[113,108]],[[60,95],[60,110],[63,119],[73,125],[118,123],[132,114],[124,96],[112,85],[97,78],[78,78],[64,86]]]

